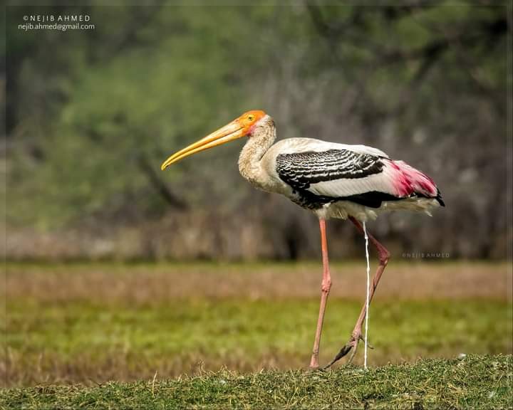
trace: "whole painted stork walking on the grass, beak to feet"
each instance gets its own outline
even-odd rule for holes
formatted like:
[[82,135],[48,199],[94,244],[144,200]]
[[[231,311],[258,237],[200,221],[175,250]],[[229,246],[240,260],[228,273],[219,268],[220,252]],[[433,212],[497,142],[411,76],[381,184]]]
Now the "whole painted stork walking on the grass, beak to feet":
[[[328,219],[351,221],[364,233],[362,224],[385,211],[430,211],[445,206],[440,189],[425,173],[409,164],[390,159],[380,149],[362,144],[341,144],[314,138],[287,138],[276,142],[276,125],[263,110],[250,110],[219,130],[168,157],[162,171],[192,154],[247,137],[239,155],[239,172],[257,189],[286,196],[313,212],[319,222],[322,253],[321,302],[311,352],[310,369],[319,369],[324,313],[331,289],[326,239]],[[374,236],[368,240],[378,252],[379,265],[368,289],[370,302],[390,252]],[[363,340],[364,304],[348,342],[323,369],[331,367],[349,352],[353,360],[358,342]]]

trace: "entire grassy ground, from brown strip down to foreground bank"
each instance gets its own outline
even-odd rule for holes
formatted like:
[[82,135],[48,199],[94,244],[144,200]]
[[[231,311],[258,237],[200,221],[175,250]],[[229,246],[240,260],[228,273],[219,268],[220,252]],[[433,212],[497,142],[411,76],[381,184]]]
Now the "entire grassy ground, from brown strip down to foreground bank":
[[[365,290],[362,263],[334,264],[332,270],[321,363],[347,341]],[[29,407],[44,407],[45,391],[55,392],[57,407],[66,396],[75,406],[81,400],[91,406],[98,400],[100,407],[108,400],[114,407],[164,406],[167,399],[177,406],[202,406],[205,389],[204,397],[212,394],[222,406],[257,405],[251,400],[261,397],[265,407],[269,394],[259,391],[272,379],[274,404],[282,407],[343,402],[336,400],[351,406],[395,399],[413,404],[415,394],[425,396],[422,389],[437,392],[437,398],[419,401],[432,406],[470,406],[488,389],[487,403],[494,407],[504,391],[512,393],[512,275],[506,263],[390,263],[371,305],[373,369],[365,377],[345,367],[316,375],[321,385],[331,386],[324,397],[313,376],[299,370],[309,362],[320,277],[317,263],[8,264],[1,316],[6,329],[1,372],[9,388],[4,395],[10,404]],[[468,356],[458,362],[460,354]],[[405,362],[417,364],[392,365]],[[497,366],[499,379],[490,375],[474,386],[473,378],[493,374]],[[440,380],[452,376],[454,389],[447,385],[440,396]],[[413,389],[418,377],[432,386]],[[457,382],[462,377],[466,384]],[[366,392],[378,379],[388,383],[388,392],[376,393],[372,386]],[[412,380],[408,389],[403,379]],[[129,384],[105,384],[110,380]],[[225,381],[222,388],[219,380]],[[365,382],[360,390],[341,390],[346,384],[356,388],[358,380]],[[249,383],[246,399],[237,393],[244,383]],[[396,387],[404,388],[394,393]],[[318,396],[304,401],[303,389]],[[133,391],[141,393],[141,401],[125,397]]]

